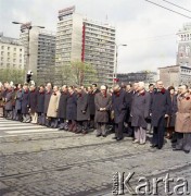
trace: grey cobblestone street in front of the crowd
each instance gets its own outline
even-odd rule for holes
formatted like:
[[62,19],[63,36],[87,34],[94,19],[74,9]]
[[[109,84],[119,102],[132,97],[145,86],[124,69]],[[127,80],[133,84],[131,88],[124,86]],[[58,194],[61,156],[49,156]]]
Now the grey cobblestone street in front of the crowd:
[[[0,132],[7,124],[11,122],[0,120]],[[14,127],[20,124],[13,125],[13,131]],[[184,177],[191,192],[190,154],[173,151],[169,142],[162,150],[156,150],[150,148],[149,142],[135,145],[130,138],[115,142],[112,136],[98,138],[93,132],[76,135],[55,130],[44,130],[41,134],[1,134],[0,195],[110,196],[116,172],[125,172],[125,175],[135,172],[130,181],[132,191],[140,176],[152,181],[169,173],[175,179],[171,191],[176,179]],[[165,195],[164,189],[164,183],[158,184],[158,195]],[[126,187],[125,195],[130,195]]]

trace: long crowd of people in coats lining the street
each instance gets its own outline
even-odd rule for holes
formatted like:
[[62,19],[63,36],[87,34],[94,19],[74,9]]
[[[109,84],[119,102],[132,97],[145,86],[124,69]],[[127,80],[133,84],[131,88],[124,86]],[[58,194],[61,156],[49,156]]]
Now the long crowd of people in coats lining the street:
[[84,86],[46,86],[0,84],[0,117],[34,123],[76,134],[96,130],[106,137],[107,125],[117,142],[127,136],[144,145],[147,130],[152,133],[152,148],[162,149],[164,138],[171,139],[174,150],[191,149],[191,90],[187,85],[164,88],[163,82],[115,84],[98,88]]

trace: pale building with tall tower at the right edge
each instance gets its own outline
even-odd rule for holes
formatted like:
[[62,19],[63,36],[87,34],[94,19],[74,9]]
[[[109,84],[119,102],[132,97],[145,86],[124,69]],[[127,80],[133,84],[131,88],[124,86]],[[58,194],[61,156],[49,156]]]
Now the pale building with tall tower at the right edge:
[[160,78],[166,87],[191,86],[191,23],[177,33],[177,65],[160,68]]

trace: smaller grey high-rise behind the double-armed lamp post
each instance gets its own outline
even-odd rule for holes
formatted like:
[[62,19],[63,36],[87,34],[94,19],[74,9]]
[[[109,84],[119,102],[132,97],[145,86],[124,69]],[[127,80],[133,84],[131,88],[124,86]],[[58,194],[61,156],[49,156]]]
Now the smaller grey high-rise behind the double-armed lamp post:
[[55,35],[26,23],[21,26],[21,42],[26,48],[26,72],[30,70],[34,73],[34,79],[38,83],[53,82]]

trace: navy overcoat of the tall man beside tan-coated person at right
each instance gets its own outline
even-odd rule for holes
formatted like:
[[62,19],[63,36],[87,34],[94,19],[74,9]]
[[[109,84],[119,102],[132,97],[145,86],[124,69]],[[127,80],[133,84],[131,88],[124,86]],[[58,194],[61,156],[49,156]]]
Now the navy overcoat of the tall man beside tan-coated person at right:
[[171,113],[171,99],[169,91],[154,90],[151,97],[151,124],[153,126],[166,126],[165,114]]

